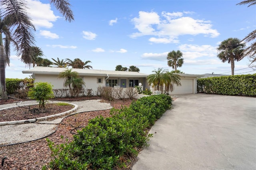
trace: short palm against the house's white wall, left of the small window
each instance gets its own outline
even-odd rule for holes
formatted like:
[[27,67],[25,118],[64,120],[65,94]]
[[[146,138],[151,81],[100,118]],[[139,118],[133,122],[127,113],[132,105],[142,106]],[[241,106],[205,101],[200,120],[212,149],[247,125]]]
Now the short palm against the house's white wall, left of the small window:
[[63,85],[64,87],[69,88],[71,97],[74,97],[74,90],[84,84],[82,79],[80,79],[78,72],[72,71],[72,69],[66,69],[65,71],[60,72],[59,77],[65,78]]

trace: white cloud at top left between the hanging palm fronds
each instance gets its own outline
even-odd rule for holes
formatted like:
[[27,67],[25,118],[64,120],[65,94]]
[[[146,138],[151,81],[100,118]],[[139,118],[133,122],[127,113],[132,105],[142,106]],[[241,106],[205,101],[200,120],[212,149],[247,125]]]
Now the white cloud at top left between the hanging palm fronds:
[[32,23],[37,28],[52,28],[52,22],[55,22],[59,16],[54,15],[53,11],[51,10],[50,4],[43,4],[38,0],[27,0],[28,13],[32,18]]

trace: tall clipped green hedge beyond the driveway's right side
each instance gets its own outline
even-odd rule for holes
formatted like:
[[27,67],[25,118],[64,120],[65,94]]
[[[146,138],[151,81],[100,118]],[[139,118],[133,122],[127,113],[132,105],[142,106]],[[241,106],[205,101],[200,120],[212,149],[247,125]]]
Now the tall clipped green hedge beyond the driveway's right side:
[[256,74],[201,78],[197,80],[197,92],[256,96]]

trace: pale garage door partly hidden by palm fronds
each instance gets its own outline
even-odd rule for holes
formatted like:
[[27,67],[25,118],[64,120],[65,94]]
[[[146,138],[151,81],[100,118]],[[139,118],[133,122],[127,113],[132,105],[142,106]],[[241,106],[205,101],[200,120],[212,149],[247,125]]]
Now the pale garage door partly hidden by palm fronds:
[[178,94],[192,94],[193,93],[193,79],[181,79],[181,86],[174,87],[174,91],[170,94],[178,95]]

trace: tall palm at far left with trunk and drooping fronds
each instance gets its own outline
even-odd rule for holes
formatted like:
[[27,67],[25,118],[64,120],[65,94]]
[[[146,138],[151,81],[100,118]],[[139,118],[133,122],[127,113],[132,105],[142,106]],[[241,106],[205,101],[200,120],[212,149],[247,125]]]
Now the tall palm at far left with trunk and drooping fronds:
[[[8,99],[6,94],[5,67],[10,63],[10,42],[16,45],[17,56],[21,56],[24,63],[32,63],[31,49],[34,45],[35,28],[31,18],[27,15],[26,0],[0,0],[0,83],[1,97]],[[65,20],[74,20],[68,0],[50,0],[57,10],[65,16]],[[5,35],[4,43],[3,36]]]

